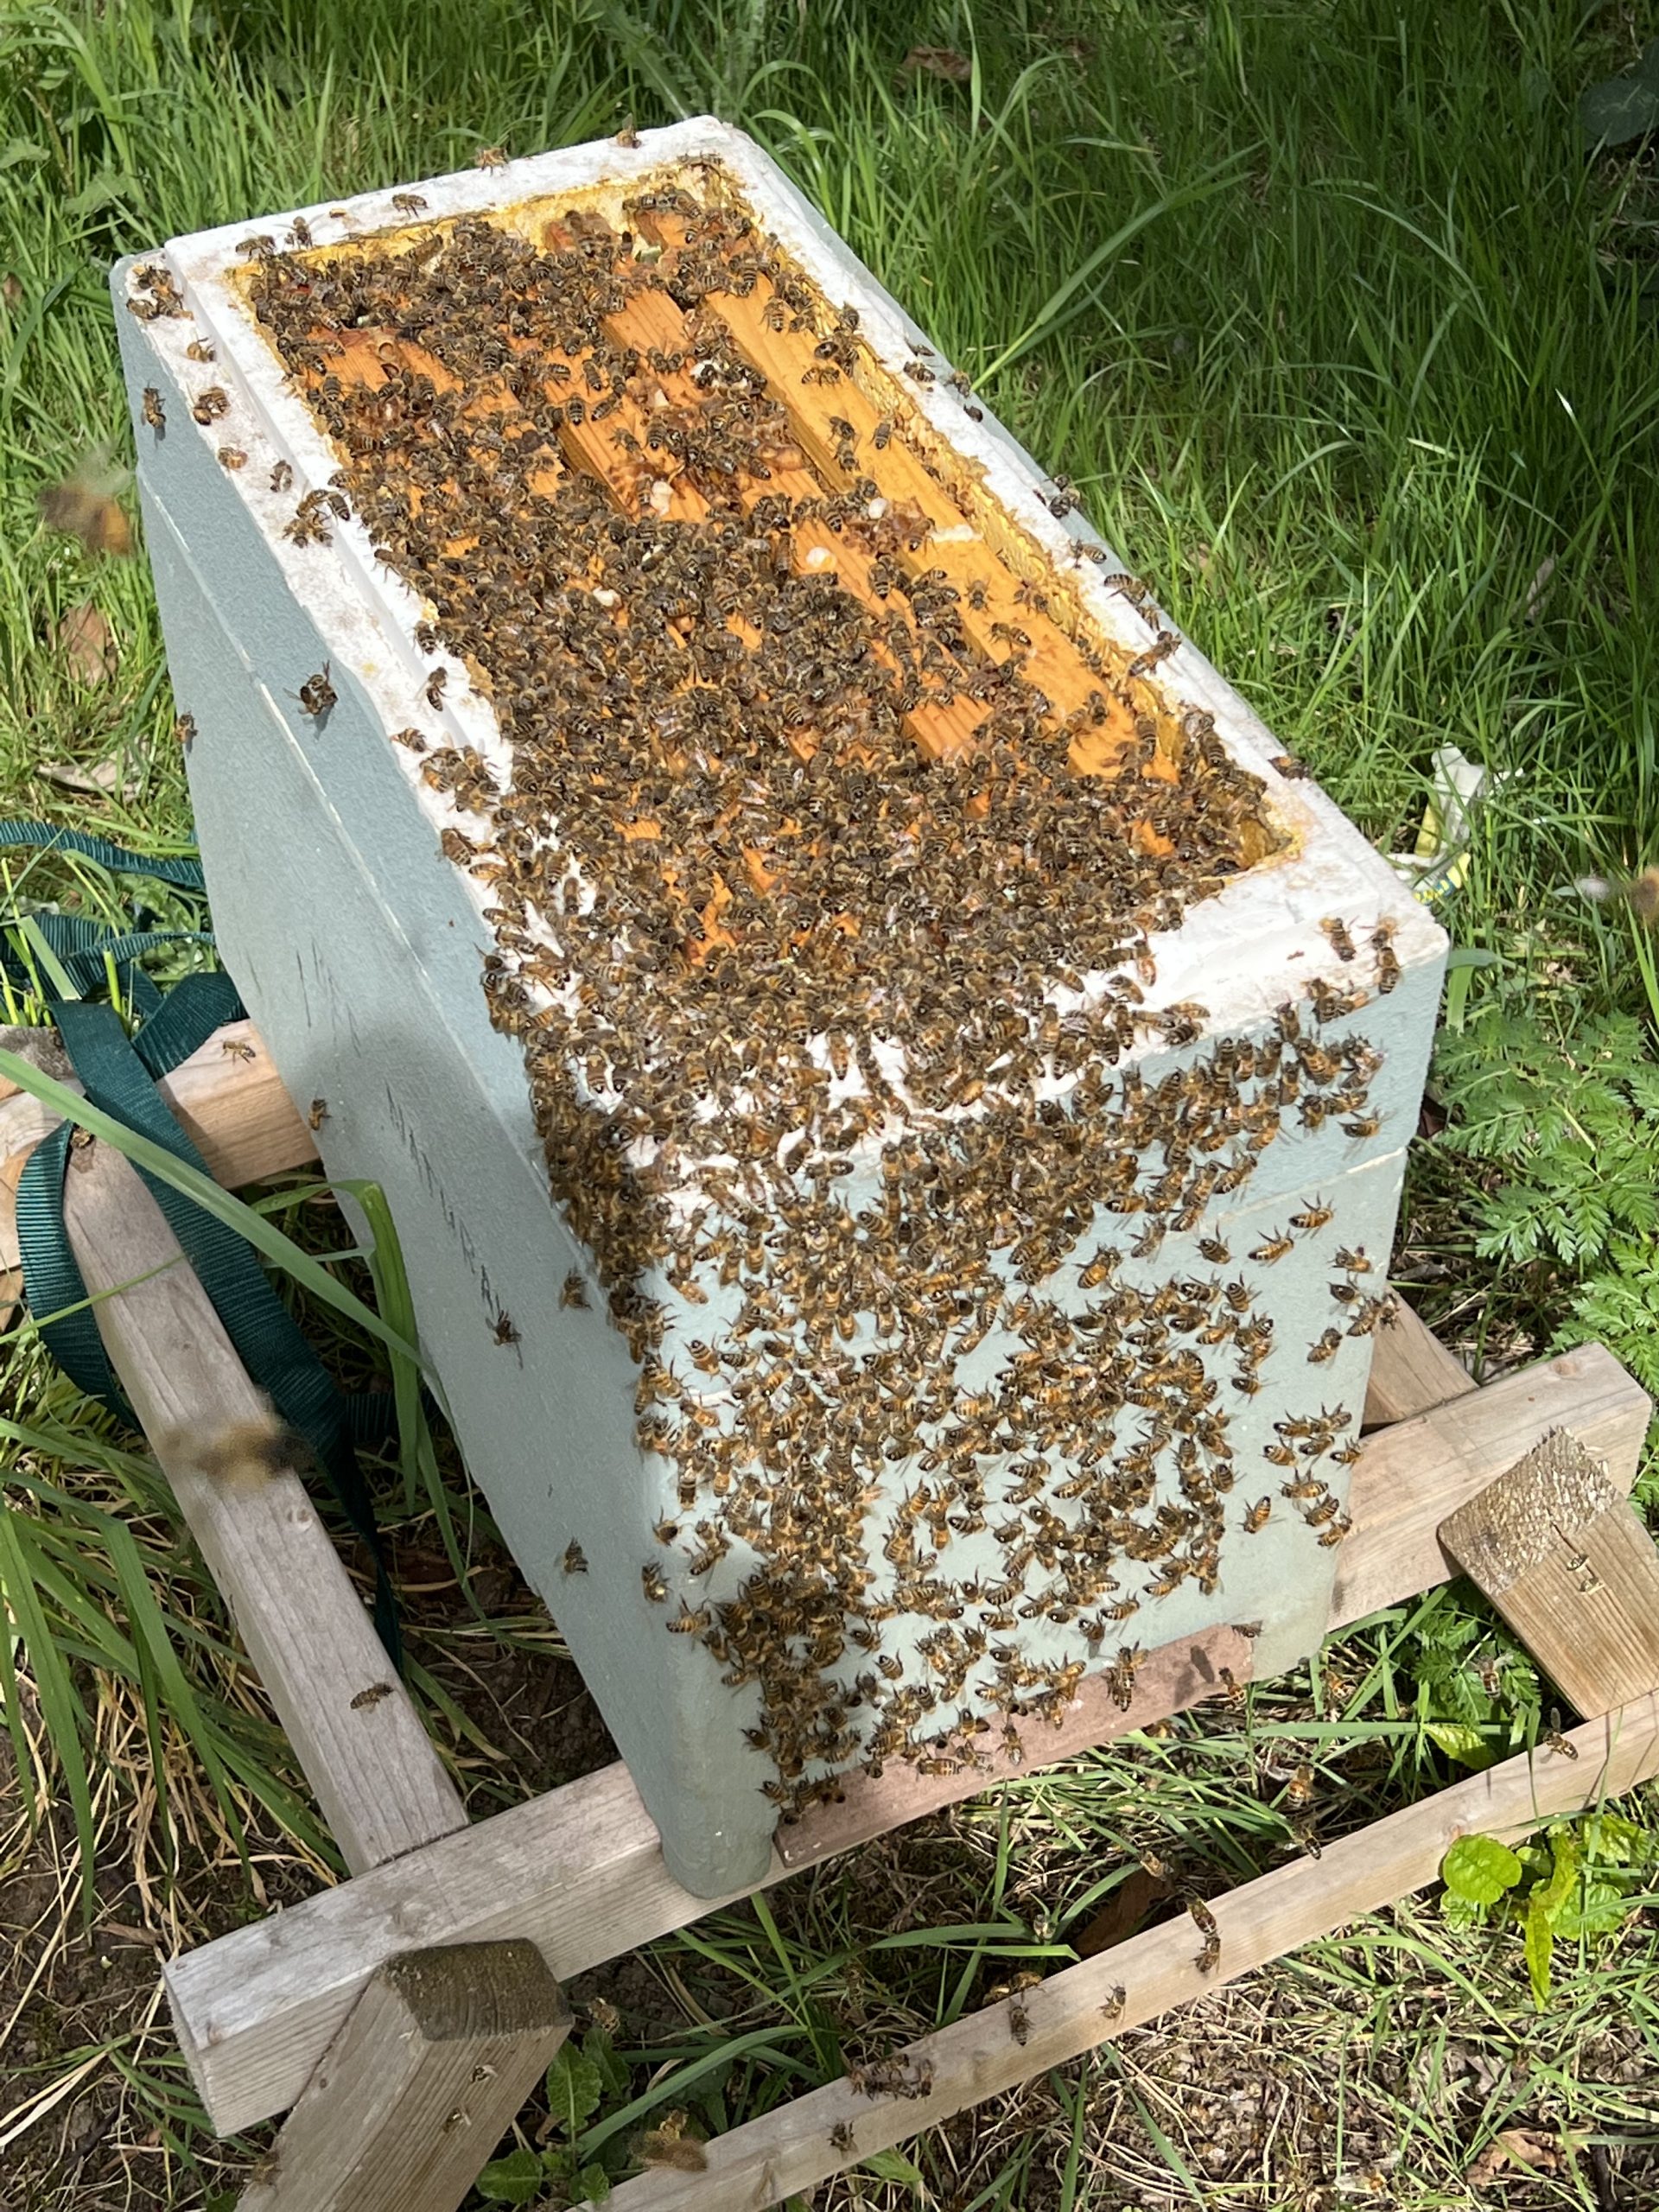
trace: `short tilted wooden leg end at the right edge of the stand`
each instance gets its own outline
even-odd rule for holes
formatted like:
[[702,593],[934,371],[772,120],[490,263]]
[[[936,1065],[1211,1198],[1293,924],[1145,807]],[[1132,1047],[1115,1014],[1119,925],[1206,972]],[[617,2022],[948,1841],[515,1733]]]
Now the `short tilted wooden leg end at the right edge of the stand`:
[[1586,1719],[1659,1688],[1659,1548],[1555,1431],[1440,1524],[1440,1542]]

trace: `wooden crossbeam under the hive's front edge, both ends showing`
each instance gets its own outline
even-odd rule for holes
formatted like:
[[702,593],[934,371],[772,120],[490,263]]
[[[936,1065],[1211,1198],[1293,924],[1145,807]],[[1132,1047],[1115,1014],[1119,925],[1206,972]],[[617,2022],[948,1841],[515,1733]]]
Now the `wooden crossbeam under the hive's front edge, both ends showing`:
[[[1498,1449],[1482,1418],[1489,1407],[1504,1438]],[[1436,1526],[1447,1502],[1473,1495],[1548,1429],[1586,1433],[1628,1486],[1646,1420],[1646,1396],[1593,1347],[1371,1438],[1356,1467],[1358,1526],[1343,1546],[1349,1599],[1360,1601],[1334,1626],[1444,1582]],[[938,1787],[933,1803],[980,1785],[956,1774]],[[792,1834],[794,1858],[821,1856],[812,1823],[834,1827],[843,1814],[810,1812]],[[847,1840],[852,1825],[841,1832]],[[785,1871],[776,1856],[768,1882]],[[166,1969],[168,1995],[208,2112],[234,2132],[294,2101],[367,1978],[409,1944],[529,1936],[568,1980],[712,1909],[670,1880],[657,1832],[615,1765],[186,1953]]]

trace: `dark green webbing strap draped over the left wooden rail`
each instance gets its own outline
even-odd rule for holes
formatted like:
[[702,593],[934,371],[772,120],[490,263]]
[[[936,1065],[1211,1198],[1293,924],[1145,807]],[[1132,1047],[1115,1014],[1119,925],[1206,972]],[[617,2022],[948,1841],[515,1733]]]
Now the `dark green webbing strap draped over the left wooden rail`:
[[[9,845],[80,852],[119,874],[148,874],[197,891],[204,887],[197,860],[150,860],[122,845],[111,845],[106,838],[84,836],[77,830],[55,830],[51,823],[0,821],[0,847]],[[117,962],[117,971],[124,962],[128,1004],[144,1013],[142,1029],[128,1037],[113,1006],[82,1000],[53,1002],[53,1020],[91,1104],[206,1175],[206,1161],[168,1113],[155,1091],[155,1077],[188,1060],[223,1022],[237,1020],[243,1013],[241,998],[223,973],[186,975],[161,998],[150,978],[133,962],[159,945],[184,940],[210,945],[212,938],[201,931],[150,929],[117,936],[80,916],[62,914],[40,914],[35,927],[62,960],[75,989],[102,984],[108,975],[106,960]],[[0,964],[13,978],[33,982],[11,949],[0,949]],[[58,1365],[84,1391],[102,1398],[137,1427],[104,1354],[104,1340],[86,1305],[86,1283],[64,1230],[64,1170],[73,1137],[73,1124],[64,1121],[35,1146],[18,1186],[24,1292],[33,1314],[58,1316],[40,1325]],[[354,1436],[367,1442],[374,1433],[387,1433],[392,1396],[378,1394],[365,1407],[349,1405],[265,1281],[246,1239],[170,1183],[142,1168],[139,1175],[201,1279],[241,1363],[265,1389],[281,1418],[305,1438],[316,1464],[330,1478],[345,1517],[369,1546],[374,1624],[387,1655],[400,1668],[403,1639],[396,1601],[374,1522],[374,1504],[352,1449]],[[80,1312],[64,1312],[66,1307],[80,1307]]]

